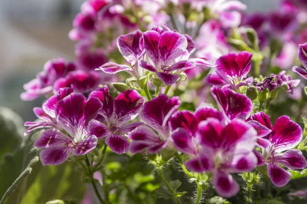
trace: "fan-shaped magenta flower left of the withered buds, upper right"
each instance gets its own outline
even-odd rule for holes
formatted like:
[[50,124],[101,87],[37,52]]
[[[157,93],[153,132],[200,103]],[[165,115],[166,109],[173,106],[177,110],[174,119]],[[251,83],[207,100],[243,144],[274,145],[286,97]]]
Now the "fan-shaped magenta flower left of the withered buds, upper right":
[[206,78],[211,85],[226,85],[232,89],[252,83],[253,77],[246,78],[251,69],[252,54],[243,51],[238,55],[229,53],[216,60],[215,72]]

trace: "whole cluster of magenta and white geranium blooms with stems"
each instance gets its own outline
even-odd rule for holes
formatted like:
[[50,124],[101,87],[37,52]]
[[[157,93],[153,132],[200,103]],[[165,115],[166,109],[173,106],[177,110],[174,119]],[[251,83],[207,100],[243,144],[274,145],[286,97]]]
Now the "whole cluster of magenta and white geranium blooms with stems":
[[[155,11],[145,10],[149,2]],[[196,181],[196,201],[210,186],[219,196],[237,195],[237,175],[248,196],[258,174],[286,186],[289,170],[307,167],[301,152],[306,132],[298,124],[301,113],[290,113],[297,118],[291,120],[271,107],[278,105],[279,87],[287,90],[284,98],[302,91],[294,72],[307,79],[307,43],[298,52],[304,68],[282,70],[294,60],[280,66],[287,45],[297,42],[300,5],[284,1],[281,11],[264,16],[239,13],[246,9],[239,1],[86,1],[70,32],[78,40],[76,63],[52,60],[25,85],[22,99],[46,96],[33,110],[38,120],[25,123],[25,135],[46,129],[34,143],[42,164],[72,158],[83,167],[85,159],[87,174],[104,168],[106,148],[146,155],[174,201],[184,193],[161,171],[174,158]]]

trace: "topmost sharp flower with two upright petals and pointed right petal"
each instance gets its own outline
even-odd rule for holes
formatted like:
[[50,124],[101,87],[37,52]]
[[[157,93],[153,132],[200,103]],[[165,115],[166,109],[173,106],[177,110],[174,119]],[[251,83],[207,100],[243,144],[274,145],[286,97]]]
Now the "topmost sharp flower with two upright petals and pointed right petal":
[[[163,80],[165,85],[170,86],[180,78],[180,73],[197,66],[214,66],[204,59],[189,59],[188,40],[185,35],[169,30],[166,26],[154,27],[146,31],[143,36],[143,46],[153,65],[140,60],[139,66],[155,72]],[[191,39],[189,38],[191,42]],[[191,45],[191,43],[190,43]]]

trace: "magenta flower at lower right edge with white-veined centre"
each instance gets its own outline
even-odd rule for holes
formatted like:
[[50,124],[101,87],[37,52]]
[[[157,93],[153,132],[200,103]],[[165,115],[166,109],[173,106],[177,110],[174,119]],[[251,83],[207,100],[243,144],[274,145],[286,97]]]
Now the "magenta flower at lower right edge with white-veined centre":
[[[253,115],[253,119],[271,129],[270,120],[264,113]],[[262,154],[254,151],[258,158],[258,166],[266,164],[272,183],[277,187],[283,187],[291,180],[292,175],[278,165],[289,169],[307,167],[307,161],[302,152],[293,149],[302,140],[302,129],[288,116],[283,115],[276,120],[272,132],[265,138],[269,139],[269,146],[262,149]]]

